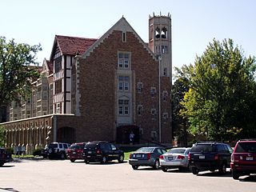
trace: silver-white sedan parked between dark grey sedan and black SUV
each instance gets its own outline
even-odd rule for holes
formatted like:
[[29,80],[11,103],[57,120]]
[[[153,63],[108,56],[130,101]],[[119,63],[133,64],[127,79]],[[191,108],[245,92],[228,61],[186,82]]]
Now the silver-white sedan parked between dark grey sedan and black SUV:
[[160,166],[162,171],[166,172],[168,169],[178,168],[179,170],[188,170],[188,154],[190,153],[188,147],[172,148],[166,154],[160,155]]

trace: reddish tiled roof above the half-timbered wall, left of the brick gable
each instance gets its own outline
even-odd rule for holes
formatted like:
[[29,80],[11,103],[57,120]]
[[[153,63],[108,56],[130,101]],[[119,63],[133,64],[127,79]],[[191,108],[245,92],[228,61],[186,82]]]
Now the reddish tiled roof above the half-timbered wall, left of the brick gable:
[[52,60],[54,56],[54,50],[57,45],[62,54],[77,55],[83,54],[97,40],[97,38],[77,38],[63,35],[55,35],[54,46],[50,54],[50,60]]

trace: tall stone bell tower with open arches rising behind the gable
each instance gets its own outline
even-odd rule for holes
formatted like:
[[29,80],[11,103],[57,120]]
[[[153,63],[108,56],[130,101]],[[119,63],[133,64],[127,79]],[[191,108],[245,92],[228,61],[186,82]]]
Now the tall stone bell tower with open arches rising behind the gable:
[[149,18],[149,47],[159,57],[161,77],[172,77],[171,18],[154,15]]

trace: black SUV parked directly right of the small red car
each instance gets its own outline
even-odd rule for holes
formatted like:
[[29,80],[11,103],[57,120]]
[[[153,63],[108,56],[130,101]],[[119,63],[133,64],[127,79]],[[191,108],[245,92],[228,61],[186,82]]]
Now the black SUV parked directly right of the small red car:
[[85,162],[102,162],[106,163],[112,160],[118,160],[123,162],[124,153],[119,150],[118,147],[110,142],[87,142],[82,157],[85,158]]

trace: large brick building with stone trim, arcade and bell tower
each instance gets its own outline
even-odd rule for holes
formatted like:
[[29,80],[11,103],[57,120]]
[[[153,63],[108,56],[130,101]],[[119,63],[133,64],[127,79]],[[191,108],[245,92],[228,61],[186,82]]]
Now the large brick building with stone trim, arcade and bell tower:
[[56,35],[21,118],[10,107],[6,146],[128,143],[131,131],[134,142],[171,143],[171,68],[169,14],[150,16],[148,43],[123,17],[98,39]]

